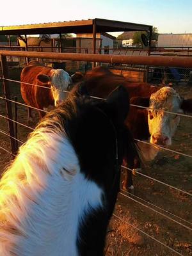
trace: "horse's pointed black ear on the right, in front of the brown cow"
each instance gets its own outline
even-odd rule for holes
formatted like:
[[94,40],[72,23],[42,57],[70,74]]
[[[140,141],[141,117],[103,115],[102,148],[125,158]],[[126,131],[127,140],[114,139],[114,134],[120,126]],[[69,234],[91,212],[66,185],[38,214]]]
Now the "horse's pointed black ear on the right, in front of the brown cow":
[[124,122],[129,113],[129,93],[123,86],[118,86],[106,100],[108,106],[116,113],[118,122]]

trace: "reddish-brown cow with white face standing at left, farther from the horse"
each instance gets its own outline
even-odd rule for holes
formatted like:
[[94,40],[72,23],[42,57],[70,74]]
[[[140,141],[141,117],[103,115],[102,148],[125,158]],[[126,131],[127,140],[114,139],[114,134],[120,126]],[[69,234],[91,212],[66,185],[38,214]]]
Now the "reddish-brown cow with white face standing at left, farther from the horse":
[[[22,99],[29,106],[42,110],[45,110],[50,105],[56,106],[61,100],[65,99],[63,90],[67,90],[70,83],[71,78],[63,69],[45,67],[38,61],[30,61],[20,74]],[[42,118],[45,112],[39,111],[39,115]],[[31,108],[28,108],[28,121],[30,118],[32,118]]]

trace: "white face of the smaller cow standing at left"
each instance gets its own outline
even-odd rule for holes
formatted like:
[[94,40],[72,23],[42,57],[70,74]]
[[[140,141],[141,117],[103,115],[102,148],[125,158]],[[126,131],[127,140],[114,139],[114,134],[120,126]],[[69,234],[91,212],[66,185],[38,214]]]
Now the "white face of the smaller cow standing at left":
[[59,104],[61,100],[65,99],[66,93],[62,92],[67,90],[68,85],[71,83],[71,78],[63,69],[52,70],[51,76],[51,92],[54,99],[54,106]]

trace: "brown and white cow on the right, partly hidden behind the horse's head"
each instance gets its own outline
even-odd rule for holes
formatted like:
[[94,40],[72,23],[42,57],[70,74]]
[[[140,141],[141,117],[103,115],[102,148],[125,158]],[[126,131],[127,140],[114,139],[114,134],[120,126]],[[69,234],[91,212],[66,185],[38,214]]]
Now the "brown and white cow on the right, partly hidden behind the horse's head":
[[[125,124],[131,129],[135,139],[146,140],[155,145],[164,147],[171,145],[173,134],[179,124],[179,115],[165,111],[174,113],[192,111],[192,99],[183,99],[173,88],[152,86],[147,83],[131,83],[122,76],[112,74],[107,68],[97,67],[90,70],[84,76],[84,84],[88,84],[87,90],[90,95],[101,98],[108,97],[116,86],[123,85],[129,92],[131,104],[149,108],[131,106]],[[154,159],[159,151],[158,148],[141,142],[138,142],[138,145],[145,161]],[[132,168],[132,164],[129,163],[129,167]],[[131,175],[129,178],[125,177],[124,189],[127,187],[133,188]]]

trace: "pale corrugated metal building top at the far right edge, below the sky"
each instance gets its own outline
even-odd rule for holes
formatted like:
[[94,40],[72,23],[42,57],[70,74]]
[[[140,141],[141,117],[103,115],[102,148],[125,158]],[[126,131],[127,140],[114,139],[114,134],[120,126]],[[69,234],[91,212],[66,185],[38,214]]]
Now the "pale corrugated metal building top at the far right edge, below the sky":
[[192,34],[159,34],[159,47],[192,47]]

